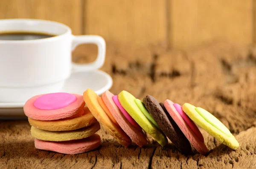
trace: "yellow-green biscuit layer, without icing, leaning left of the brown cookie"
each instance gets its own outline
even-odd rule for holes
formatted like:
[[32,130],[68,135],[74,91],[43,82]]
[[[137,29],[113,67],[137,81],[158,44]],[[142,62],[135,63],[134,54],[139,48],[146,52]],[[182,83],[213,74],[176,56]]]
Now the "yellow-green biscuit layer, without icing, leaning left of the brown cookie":
[[153,123],[148,120],[148,118],[140,111],[139,107],[136,105],[136,98],[129,92],[122,91],[118,95],[118,100],[120,101],[123,108],[128,112],[129,115],[141,126],[145,132],[150,134],[154,139],[160,143],[161,146],[165,146],[168,143],[166,136],[161,132]]

